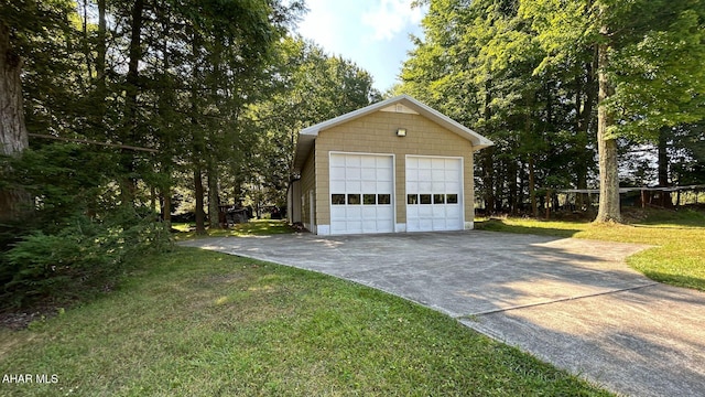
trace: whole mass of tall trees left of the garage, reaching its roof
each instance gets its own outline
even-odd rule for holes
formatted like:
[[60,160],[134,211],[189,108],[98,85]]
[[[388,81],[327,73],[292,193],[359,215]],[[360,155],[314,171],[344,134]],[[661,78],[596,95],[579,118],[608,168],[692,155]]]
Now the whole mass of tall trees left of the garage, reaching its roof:
[[[0,283],[20,303],[98,276],[76,256],[100,256],[91,242],[147,249],[167,239],[159,230],[175,212],[203,232],[221,225],[221,205],[282,205],[296,129],[379,96],[367,72],[291,33],[300,1],[0,7],[0,99],[12,104],[0,115],[12,154],[0,171]],[[26,260],[55,236],[77,242],[47,259],[64,265]],[[105,255],[96,266],[124,259]]]

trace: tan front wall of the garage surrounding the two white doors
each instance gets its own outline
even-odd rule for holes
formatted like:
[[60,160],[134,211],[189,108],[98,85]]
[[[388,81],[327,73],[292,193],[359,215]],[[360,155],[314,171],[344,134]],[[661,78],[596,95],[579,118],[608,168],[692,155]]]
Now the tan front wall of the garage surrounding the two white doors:
[[[405,137],[397,129],[405,128]],[[462,157],[464,164],[464,208],[466,228],[474,222],[473,146],[467,139],[448,131],[420,115],[377,111],[344,125],[323,130],[316,138],[316,213],[319,225],[330,225],[329,155],[335,152],[383,153],[394,155],[397,224],[406,224],[406,154]],[[398,229],[398,230],[399,230]],[[321,230],[325,232],[324,229]]]

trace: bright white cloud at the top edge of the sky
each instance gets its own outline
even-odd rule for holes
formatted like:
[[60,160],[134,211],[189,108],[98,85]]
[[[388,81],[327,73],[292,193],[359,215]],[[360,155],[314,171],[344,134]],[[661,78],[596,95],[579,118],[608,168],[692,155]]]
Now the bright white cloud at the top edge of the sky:
[[391,41],[409,25],[417,25],[424,12],[411,3],[412,0],[381,0],[371,11],[362,13],[362,24],[372,28],[368,39]]

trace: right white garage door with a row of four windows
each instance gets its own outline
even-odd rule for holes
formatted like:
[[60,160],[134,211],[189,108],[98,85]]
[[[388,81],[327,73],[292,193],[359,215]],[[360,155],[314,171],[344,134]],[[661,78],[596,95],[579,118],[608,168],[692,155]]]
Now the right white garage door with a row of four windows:
[[463,161],[406,157],[406,230],[462,230]]

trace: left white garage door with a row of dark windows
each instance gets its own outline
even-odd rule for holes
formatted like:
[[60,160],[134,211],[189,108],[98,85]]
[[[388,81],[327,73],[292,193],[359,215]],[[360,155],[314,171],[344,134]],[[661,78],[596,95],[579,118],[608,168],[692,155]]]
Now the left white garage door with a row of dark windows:
[[330,153],[330,233],[394,230],[393,157]]

